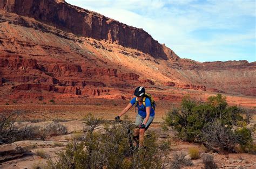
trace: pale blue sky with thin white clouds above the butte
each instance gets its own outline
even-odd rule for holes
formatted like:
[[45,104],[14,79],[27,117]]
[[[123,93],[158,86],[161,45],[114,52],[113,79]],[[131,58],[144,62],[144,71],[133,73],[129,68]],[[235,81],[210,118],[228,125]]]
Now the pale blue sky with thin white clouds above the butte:
[[180,58],[256,61],[255,0],[65,0],[139,27]]

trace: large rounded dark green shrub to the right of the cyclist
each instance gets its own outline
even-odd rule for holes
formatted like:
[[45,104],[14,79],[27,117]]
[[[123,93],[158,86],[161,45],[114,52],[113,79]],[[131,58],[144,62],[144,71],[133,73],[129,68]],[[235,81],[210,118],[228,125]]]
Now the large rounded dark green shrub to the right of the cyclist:
[[248,123],[248,118],[244,118],[243,114],[245,111],[236,106],[228,107],[226,98],[221,94],[208,97],[206,102],[184,97],[181,108],[167,112],[164,121],[178,131],[181,139],[230,151],[235,144],[252,142],[248,134],[250,130],[243,128],[242,133],[234,130],[235,126]]

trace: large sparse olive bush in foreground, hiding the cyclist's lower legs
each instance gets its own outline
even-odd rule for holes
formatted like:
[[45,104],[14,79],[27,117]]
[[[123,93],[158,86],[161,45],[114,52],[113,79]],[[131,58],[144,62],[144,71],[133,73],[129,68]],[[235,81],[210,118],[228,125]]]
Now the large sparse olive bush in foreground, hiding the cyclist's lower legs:
[[104,122],[104,132],[95,132],[102,120],[91,114],[85,118],[91,126],[83,140],[74,139],[58,153],[57,161],[49,160],[51,168],[161,168],[168,144],[156,143],[156,134],[149,132],[144,147],[131,144],[132,125],[129,121]]

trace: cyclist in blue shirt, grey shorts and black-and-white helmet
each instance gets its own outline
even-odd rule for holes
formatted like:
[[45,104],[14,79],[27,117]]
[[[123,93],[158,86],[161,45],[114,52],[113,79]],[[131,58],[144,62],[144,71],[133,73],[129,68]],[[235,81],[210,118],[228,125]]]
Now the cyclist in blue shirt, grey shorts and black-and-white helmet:
[[149,128],[150,124],[154,119],[154,109],[151,106],[151,102],[149,98],[145,98],[145,105],[143,104],[143,97],[145,96],[146,90],[143,86],[139,86],[134,90],[134,95],[130,103],[124,108],[120,114],[115,117],[116,121],[120,120],[120,117],[124,115],[131,107],[137,103],[138,114],[136,116],[135,125],[137,126],[133,132],[133,139],[137,141],[139,139],[139,147],[143,146],[144,141],[144,133]]

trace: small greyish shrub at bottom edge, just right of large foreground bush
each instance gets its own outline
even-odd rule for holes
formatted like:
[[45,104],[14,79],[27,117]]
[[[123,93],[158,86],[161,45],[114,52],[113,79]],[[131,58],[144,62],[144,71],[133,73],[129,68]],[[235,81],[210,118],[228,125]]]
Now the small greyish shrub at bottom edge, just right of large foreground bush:
[[183,166],[193,166],[191,159],[186,159],[185,156],[186,155],[183,153],[180,153],[180,154],[174,153],[173,159],[171,161],[171,168],[178,169]]

